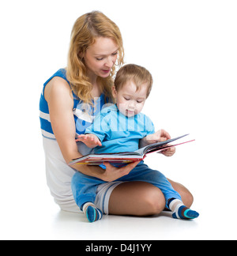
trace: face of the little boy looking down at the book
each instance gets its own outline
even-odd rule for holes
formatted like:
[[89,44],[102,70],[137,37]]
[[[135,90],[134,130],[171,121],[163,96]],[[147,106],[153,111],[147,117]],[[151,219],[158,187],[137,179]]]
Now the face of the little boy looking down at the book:
[[127,117],[132,117],[141,112],[147,95],[147,85],[141,86],[137,91],[134,81],[127,81],[117,92],[115,86],[112,88],[113,96],[116,99],[119,111]]

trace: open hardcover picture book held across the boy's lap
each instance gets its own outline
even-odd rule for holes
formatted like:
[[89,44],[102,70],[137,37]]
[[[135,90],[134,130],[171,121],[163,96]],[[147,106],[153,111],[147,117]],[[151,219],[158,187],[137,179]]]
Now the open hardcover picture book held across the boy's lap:
[[100,164],[103,164],[103,162],[109,162],[119,167],[119,166],[122,166],[122,164],[129,164],[132,162],[144,160],[145,156],[147,156],[147,154],[149,153],[160,152],[165,149],[171,148],[173,146],[182,145],[187,142],[190,142],[190,141],[185,141],[176,145],[168,145],[168,143],[171,143],[172,141],[176,141],[187,135],[189,134],[182,135],[180,137],[175,137],[167,141],[150,144],[134,152],[118,152],[118,153],[114,152],[114,153],[89,154],[86,156],[81,156],[71,161],[70,165],[73,165],[73,164],[100,165]]

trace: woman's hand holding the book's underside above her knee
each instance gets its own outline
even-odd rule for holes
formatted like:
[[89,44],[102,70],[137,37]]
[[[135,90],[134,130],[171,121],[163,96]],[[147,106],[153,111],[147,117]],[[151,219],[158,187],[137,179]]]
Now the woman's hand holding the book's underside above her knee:
[[116,179],[121,178],[122,176],[128,175],[130,171],[132,171],[140,161],[134,162],[132,164],[128,164],[122,168],[115,168],[113,165],[109,163],[103,163],[106,166],[106,170],[103,173],[103,181],[112,182]]

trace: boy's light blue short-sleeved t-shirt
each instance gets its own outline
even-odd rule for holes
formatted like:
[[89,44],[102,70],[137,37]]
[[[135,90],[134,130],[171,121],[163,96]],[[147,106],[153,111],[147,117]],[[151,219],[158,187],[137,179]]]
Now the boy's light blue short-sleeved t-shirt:
[[103,108],[92,126],[85,130],[85,134],[95,134],[102,142],[102,146],[94,149],[95,153],[134,152],[139,148],[141,138],[154,133],[154,125],[148,116],[139,113],[127,117],[116,105]]

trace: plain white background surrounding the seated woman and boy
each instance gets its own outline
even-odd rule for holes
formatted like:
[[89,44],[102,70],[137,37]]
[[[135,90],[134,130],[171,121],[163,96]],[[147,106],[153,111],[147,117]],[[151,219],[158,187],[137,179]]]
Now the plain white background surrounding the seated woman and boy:
[[[147,163],[194,194],[194,221],[167,216],[61,213],[47,189],[39,100],[66,66],[77,17],[100,10],[119,25],[126,62],[154,85],[144,113],[171,137],[196,141]],[[0,239],[237,239],[237,3],[186,1],[7,1],[0,8]]]

